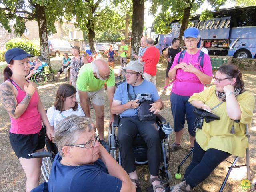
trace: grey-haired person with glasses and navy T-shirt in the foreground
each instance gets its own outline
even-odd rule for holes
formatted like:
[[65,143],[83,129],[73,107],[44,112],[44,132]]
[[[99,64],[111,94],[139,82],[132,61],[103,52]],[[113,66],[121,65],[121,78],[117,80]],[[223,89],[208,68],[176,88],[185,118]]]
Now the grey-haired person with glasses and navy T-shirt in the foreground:
[[52,164],[49,192],[135,192],[125,170],[98,142],[90,118],[71,115],[55,129],[59,153]]

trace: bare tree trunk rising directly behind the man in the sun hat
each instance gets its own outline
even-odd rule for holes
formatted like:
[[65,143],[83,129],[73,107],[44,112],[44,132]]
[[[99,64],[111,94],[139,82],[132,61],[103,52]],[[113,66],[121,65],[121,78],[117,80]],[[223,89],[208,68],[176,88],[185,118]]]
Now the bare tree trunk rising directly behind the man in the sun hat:
[[136,60],[132,55],[138,55],[140,39],[143,35],[144,25],[144,0],[132,0],[132,41],[131,60]]

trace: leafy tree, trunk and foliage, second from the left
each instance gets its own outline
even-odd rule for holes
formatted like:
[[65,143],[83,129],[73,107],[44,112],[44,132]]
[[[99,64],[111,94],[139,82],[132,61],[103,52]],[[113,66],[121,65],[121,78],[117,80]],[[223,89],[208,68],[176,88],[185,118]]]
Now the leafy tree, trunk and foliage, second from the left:
[[118,7],[107,0],[76,0],[68,2],[66,18],[75,16],[75,26],[88,33],[90,49],[94,50],[95,32],[124,28]]

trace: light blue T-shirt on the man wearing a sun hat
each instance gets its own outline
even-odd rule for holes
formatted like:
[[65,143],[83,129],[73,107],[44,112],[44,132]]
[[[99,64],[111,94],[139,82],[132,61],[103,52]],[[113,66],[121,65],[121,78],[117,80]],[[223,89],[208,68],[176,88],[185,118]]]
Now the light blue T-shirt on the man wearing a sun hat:
[[[152,101],[155,102],[156,100],[160,99],[160,96],[157,92],[156,86],[149,82],[148,80],[144,80],[142,84],[139,86],[135,86],[134,90],[133,87],[129,84],[129,93],[132,98],[136,98],[137,94],[150,94]],[[135,94],[134,94],[135,93]],[[122,105],[129,102],[128,94],[127,94],[127,83],[124,82],[118,86],[116,92],[114,94],[114,100],[122,101]],[[131,117],[137,115],[138,109],[127,109],[124,112],[120,113],[119,116],[121,117]]]

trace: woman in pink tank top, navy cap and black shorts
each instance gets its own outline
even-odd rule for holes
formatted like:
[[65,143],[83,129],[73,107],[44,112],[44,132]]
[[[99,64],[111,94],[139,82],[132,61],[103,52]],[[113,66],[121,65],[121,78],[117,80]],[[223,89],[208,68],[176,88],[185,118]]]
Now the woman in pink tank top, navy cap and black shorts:
[[25,80],[29,72],[29,57],[20,48],[7,50],[4,82],[0,85],[0,100],[10,115],[10,144],[26,173],[26,191],[38,186],[42,158],[32,158],[32,154],[44,151],[45,133],[54,140],[54,130],[49,124],[36,84]]

